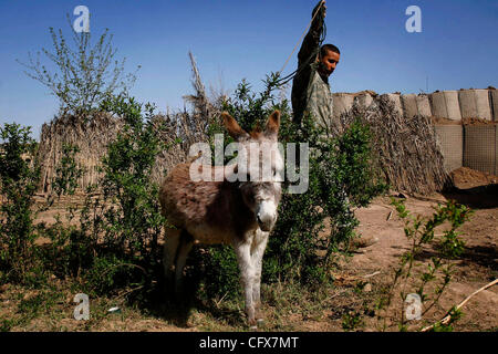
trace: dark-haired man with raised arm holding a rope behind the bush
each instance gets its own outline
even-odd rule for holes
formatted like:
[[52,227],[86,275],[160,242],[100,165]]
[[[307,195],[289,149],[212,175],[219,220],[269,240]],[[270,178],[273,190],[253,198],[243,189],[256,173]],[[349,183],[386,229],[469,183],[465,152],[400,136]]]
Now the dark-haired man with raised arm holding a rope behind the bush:
[[336,135],[341,129],[339,122],[333,121],[329,76],[339,64],[341,52],[333,44],[320,48],[325,13],[325,1],[320,1],[313,9],[313,21],[298,54],[298,73],[292,83],[291,100],[297,124],[305,114],[311,114],[328,134]]

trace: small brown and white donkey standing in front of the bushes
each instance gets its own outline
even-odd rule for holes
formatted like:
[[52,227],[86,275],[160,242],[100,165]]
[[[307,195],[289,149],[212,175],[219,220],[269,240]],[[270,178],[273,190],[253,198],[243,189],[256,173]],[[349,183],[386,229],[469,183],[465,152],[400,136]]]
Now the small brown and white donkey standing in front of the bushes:
[[[251,329],[257,329],[257,323],[263,321],[260,310],[262,257],[277,221],[281,197],[279,177],[283,159],[277,147],[280,112],[274,111],[269,116],[264,131],[257,128],[250,134],[228,113],[224,112],[221,116],[230,136],[250,152],[247,163],[199,165],[199,173],[204,168],[214,174],[222,169],[221,181],[191,180],[191,162],[176,166],[168,174],[160,187],[159,201],[163,215],[175,228],[165,228],[163,263],[166,279],[175,283],[178,294],[186,259],[194,243],[231,244],[240,270],[248,323]],[[259,164],[255,163],[255,157]],[[269,166],[271,178],[261,178],[260,171],[268,170]]]

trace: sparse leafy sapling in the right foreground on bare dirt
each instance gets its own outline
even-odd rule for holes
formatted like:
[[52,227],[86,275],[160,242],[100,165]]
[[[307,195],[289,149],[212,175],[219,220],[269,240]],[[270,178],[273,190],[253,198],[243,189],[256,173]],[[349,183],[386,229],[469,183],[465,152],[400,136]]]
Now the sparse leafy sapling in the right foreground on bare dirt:
[[[393,310],[395,293],[400,291],[397,299],[401,301],[398,327],[401,331],[407,331],[411,319],[406,316],[404,304],[407,302],[408,295],[418,295],[421,317],[439,303],[439,299],[453,277],[454,263],[452,260],[458,259],[465,248],[465,242],[459,237],[457,229],[469,220],[474,211],[449,200],[445,205],[438,204],[437,207],[434,207],[435,211],[430,218],[424,218],[419,215],[412,215],[403,200],[392,198],[391,204],[396,208],[397,215],[404,222],[404,232],[411,246],[401,257],[391,284],[377,301],[377,320],[382,320],[382,330],[385,331],[388,311]],[[436,228],[445,223],[449,226],[449,228],[446,227],[448,230],[436,235]],[[427,247],[434,248],[434,256],[430,257],[430,262],[423,262],[419,257]],[[429,284],[433,287],[427,290]],[[422,305],[424,305],[423,311]],[[452,308],[448,313],[452,322],[456,321],[460,314],[456,308]],[[437,323],[433,330],[450,331],[452,326]]]

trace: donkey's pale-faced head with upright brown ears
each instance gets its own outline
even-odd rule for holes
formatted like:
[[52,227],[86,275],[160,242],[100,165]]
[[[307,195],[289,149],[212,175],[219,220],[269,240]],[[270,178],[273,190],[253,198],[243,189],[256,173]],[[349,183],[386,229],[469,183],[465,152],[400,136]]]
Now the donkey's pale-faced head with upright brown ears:
[[255,214],[260,229],[270,231],[277,220],[283,176],[283,158],[277,144],[280,112],[269,116],[264,131],[257,128],[251,133],[243,131],[228,113],[222,113],[222,117],[228,133],[238,143],[232,171],[243,202]]

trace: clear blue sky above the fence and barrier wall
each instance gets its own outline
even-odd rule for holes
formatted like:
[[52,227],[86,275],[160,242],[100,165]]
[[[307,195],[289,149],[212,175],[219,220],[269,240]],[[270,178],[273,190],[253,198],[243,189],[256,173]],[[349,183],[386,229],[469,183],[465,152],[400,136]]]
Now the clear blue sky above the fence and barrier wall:
[[[142,65],[132,94],[159,111],[184,106],[191,93],[188,51],[206,86],[231,93],[246,79],[256,90],[277,72],[311,19],[318,0],[0,0],[0,124],[33,127],[34,137],[58,100],[28,77],[28,52],[51,49],[49,28],[70,34],[76,6],[91,13],[97,39],[114,34],[127,71]],[[409,6],[422,32],[409,33]],[[498,86],[497,0],[330,0],[326,40],[341,49],[333,92],[378,93]],[[284,70],[297,66],[295,54]]]

